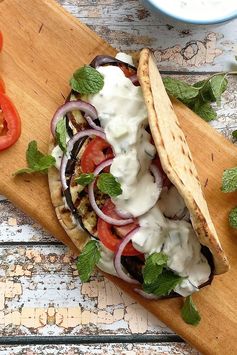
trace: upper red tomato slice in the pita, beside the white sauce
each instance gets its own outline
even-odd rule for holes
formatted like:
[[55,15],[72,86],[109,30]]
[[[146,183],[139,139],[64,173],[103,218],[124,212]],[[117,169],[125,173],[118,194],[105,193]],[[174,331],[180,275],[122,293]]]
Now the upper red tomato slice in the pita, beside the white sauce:
[[93,173],[97,165],[110,158],[113,158],[110,144],[100,137],[95,137],[82,154],[81,170],[83,173]]

